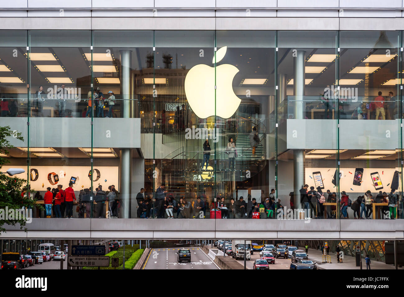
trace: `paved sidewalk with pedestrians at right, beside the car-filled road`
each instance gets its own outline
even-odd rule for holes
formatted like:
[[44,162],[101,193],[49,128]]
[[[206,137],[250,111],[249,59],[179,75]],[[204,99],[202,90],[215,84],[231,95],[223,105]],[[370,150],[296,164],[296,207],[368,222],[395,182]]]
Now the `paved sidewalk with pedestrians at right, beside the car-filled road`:
[[[303,249],[304,250],[304,249]],[[335,253],[329,254],[331,257],[332,263],[321,263],[322,262],[322,253],[316,249],[309,249],[307,253],[310,260],[317,262],[317,267],[319,269],[360,269],[360,267],[356,267],[356,259],[351,255],[344,255],[343,263],[337,262],[337,255]],[[370,264],[371,269],[394,269],[394,265],[385,264],[383,262],[378,262],[375,260],[371,260]],[[362,269],[366,270],[366,261],[362,259]],[[403,269],[403,268],[398,268]]]

